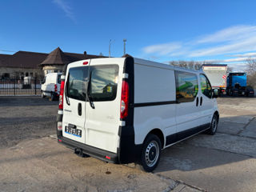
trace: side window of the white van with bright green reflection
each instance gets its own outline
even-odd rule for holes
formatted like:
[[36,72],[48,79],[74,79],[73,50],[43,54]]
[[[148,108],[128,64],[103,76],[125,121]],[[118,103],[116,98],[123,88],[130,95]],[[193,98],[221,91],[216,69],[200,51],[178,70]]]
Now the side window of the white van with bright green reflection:
[[175,71],[176,100],[193,102],[198,94],[198,76],[182,71]]

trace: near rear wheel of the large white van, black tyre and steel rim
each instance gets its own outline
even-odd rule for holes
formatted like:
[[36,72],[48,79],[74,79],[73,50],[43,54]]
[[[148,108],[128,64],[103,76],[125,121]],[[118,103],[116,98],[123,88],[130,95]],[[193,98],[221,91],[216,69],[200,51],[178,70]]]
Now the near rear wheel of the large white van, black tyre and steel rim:
[[160,160],[161,141],[155,134],[149,134],[142,146],[141,165],[146,172],[152,172]]

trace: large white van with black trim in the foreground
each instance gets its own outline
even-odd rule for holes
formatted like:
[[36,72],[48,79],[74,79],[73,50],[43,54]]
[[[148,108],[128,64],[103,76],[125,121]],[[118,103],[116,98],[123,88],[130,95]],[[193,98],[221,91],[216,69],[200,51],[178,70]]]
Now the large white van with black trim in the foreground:
[[73,62],[62,75],[58,142],[152,171],[167,146],[215,134],[217,94],[202,71],[131,57]]

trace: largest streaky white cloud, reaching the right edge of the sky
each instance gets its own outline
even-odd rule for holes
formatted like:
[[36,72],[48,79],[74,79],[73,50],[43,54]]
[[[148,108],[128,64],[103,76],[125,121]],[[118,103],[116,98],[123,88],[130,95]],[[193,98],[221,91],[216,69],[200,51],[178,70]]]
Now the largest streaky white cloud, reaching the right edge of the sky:
[[[146,46],[146,54],[186,58],[212,57],[223,54],[239,54],[256,50],[256,26],[231,26],[214,34],[191,39],[190,42],[169,42]],[[242,54],[241,54],[242,55]],[[248,57],[244,54],[241,57]],[[251,53],[250,56],[256,56]],[[235,56],[234,57],[238,57]]]

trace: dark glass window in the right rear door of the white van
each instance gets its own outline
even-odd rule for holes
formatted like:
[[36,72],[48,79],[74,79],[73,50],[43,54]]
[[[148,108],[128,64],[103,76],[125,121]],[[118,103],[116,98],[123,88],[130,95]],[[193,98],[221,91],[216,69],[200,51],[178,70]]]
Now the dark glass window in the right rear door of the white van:
[[93,101],[113,101],[117,95],[118,66],[91,66],[90,73],[90,97]]

